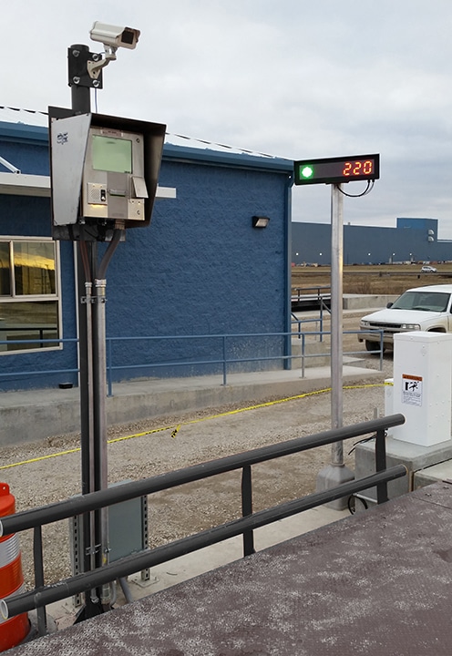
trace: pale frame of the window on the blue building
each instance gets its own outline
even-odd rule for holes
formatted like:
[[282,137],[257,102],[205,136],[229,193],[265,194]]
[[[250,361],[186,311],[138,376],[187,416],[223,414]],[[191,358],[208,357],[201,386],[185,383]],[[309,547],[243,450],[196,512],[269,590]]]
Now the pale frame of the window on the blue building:
[[[15,266],[14,266],[14,242],[21,241],[40,241],[54,244],[55,252],[55,293],[51,294],[16,294],[15,293]],[[0,235],[0,243],[9,244],[9,264],[10,264],[10,294],[0,295],[0,308],[2,304],[11,302],[39,302],[39,301],[55,301],[56,302],[56,333],[57,339],[63,338],[63,312],[62,312],[62,299],[61,299],[61,266],[60,266],[60,249],[59,241],[53,240],[51,237],[31,237],[26,235]],[[13,292],[13,293],[11,293]],[[0,310],[1,312],[1,310]],[[1,333],[1,328],[0,328]],[[18,345],[18,344],[17,344]],[[18,355],[18,354],[34,354],[43,353],[48,351],[61,351],[63,349],[62,343],[54,345],[33,344],[26,348],[16,348],[11,351],[0,350],[0,356],[3,355]]]

